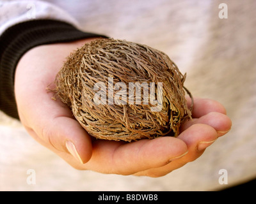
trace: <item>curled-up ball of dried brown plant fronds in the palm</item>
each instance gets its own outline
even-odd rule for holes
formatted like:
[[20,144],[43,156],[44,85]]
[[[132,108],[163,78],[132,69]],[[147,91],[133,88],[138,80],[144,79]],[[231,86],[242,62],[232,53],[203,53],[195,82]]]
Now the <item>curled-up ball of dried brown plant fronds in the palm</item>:
[[[191,109],[177,66],[163,52],[100,38],[72,52],[56,76],[56,94],[86,131],[131,142],[179,135]],[[192,103],[193,104],[193,103]]]

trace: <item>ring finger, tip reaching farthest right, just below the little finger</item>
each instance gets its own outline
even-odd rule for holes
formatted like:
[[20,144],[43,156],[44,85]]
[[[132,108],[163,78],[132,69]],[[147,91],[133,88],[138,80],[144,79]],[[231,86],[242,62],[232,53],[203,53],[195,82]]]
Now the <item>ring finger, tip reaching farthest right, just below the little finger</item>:
[[182,126],[180,127],[180,133],[182,133],[182,131],[184,131],[185,129],[188,129],[193,124],[200,123],[212,126],[212,128],[217,131],[218,136],[225,135],[232,126],[232,121],[229,117],[227,117],[227,115],[219,112],[210,112],[206,115],[203,115],[199,119],[192,119],[184,122],[184,124],[182,124]]

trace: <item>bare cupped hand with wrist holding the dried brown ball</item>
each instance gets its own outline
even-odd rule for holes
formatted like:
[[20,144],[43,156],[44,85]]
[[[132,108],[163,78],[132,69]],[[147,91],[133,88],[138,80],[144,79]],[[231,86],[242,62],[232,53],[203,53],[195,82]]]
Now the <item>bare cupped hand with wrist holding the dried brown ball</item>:
[[[180,127],[177,138],[114,142],[95,140],[60,100],[53,100],[54,79],[65,58],[93,39],[32,48],[15,72],[15,97],[20,122],[37,142],[78,170],[119,175],[161,177],[200,157],[206,147],[231,128],[226,110],[217,101],[195,98],[193,120]],[[188,105],[190,104],[188,98]],[[76,155],[66,142],[72,142]]]

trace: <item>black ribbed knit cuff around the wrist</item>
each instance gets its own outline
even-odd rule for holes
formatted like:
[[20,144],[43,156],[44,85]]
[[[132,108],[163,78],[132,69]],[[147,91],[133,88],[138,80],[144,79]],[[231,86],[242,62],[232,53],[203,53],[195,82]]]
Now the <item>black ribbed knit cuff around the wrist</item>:
[[38,45],[106,36],[84,33],[58,20],[31,20],[13,25],[0,36],[0,110],[19,119],[14,96],[14,74],[20,57]]

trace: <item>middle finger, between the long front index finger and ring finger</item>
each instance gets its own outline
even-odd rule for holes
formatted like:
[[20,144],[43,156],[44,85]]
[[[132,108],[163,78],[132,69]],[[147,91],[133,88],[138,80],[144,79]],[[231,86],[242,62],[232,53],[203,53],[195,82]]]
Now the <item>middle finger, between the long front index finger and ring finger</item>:
[[[195,161],[195,159],[202,155],[207,145],[211,145],[216,140],[217,135],[216,131],[211,126],[207,126],[205,124],[195,124],[181,133],[178,138],[186,143],[188,147],[188,154],[175,159],[171,163],[161,166],[160,168],[151,168],[149,170],[135,173],[134,175],[162,177],[171,171],[184,166],[186,163]],[[200,145],[203,146],[200,147]],[[200,147],[200,149],[198,149],[198,147]]]

